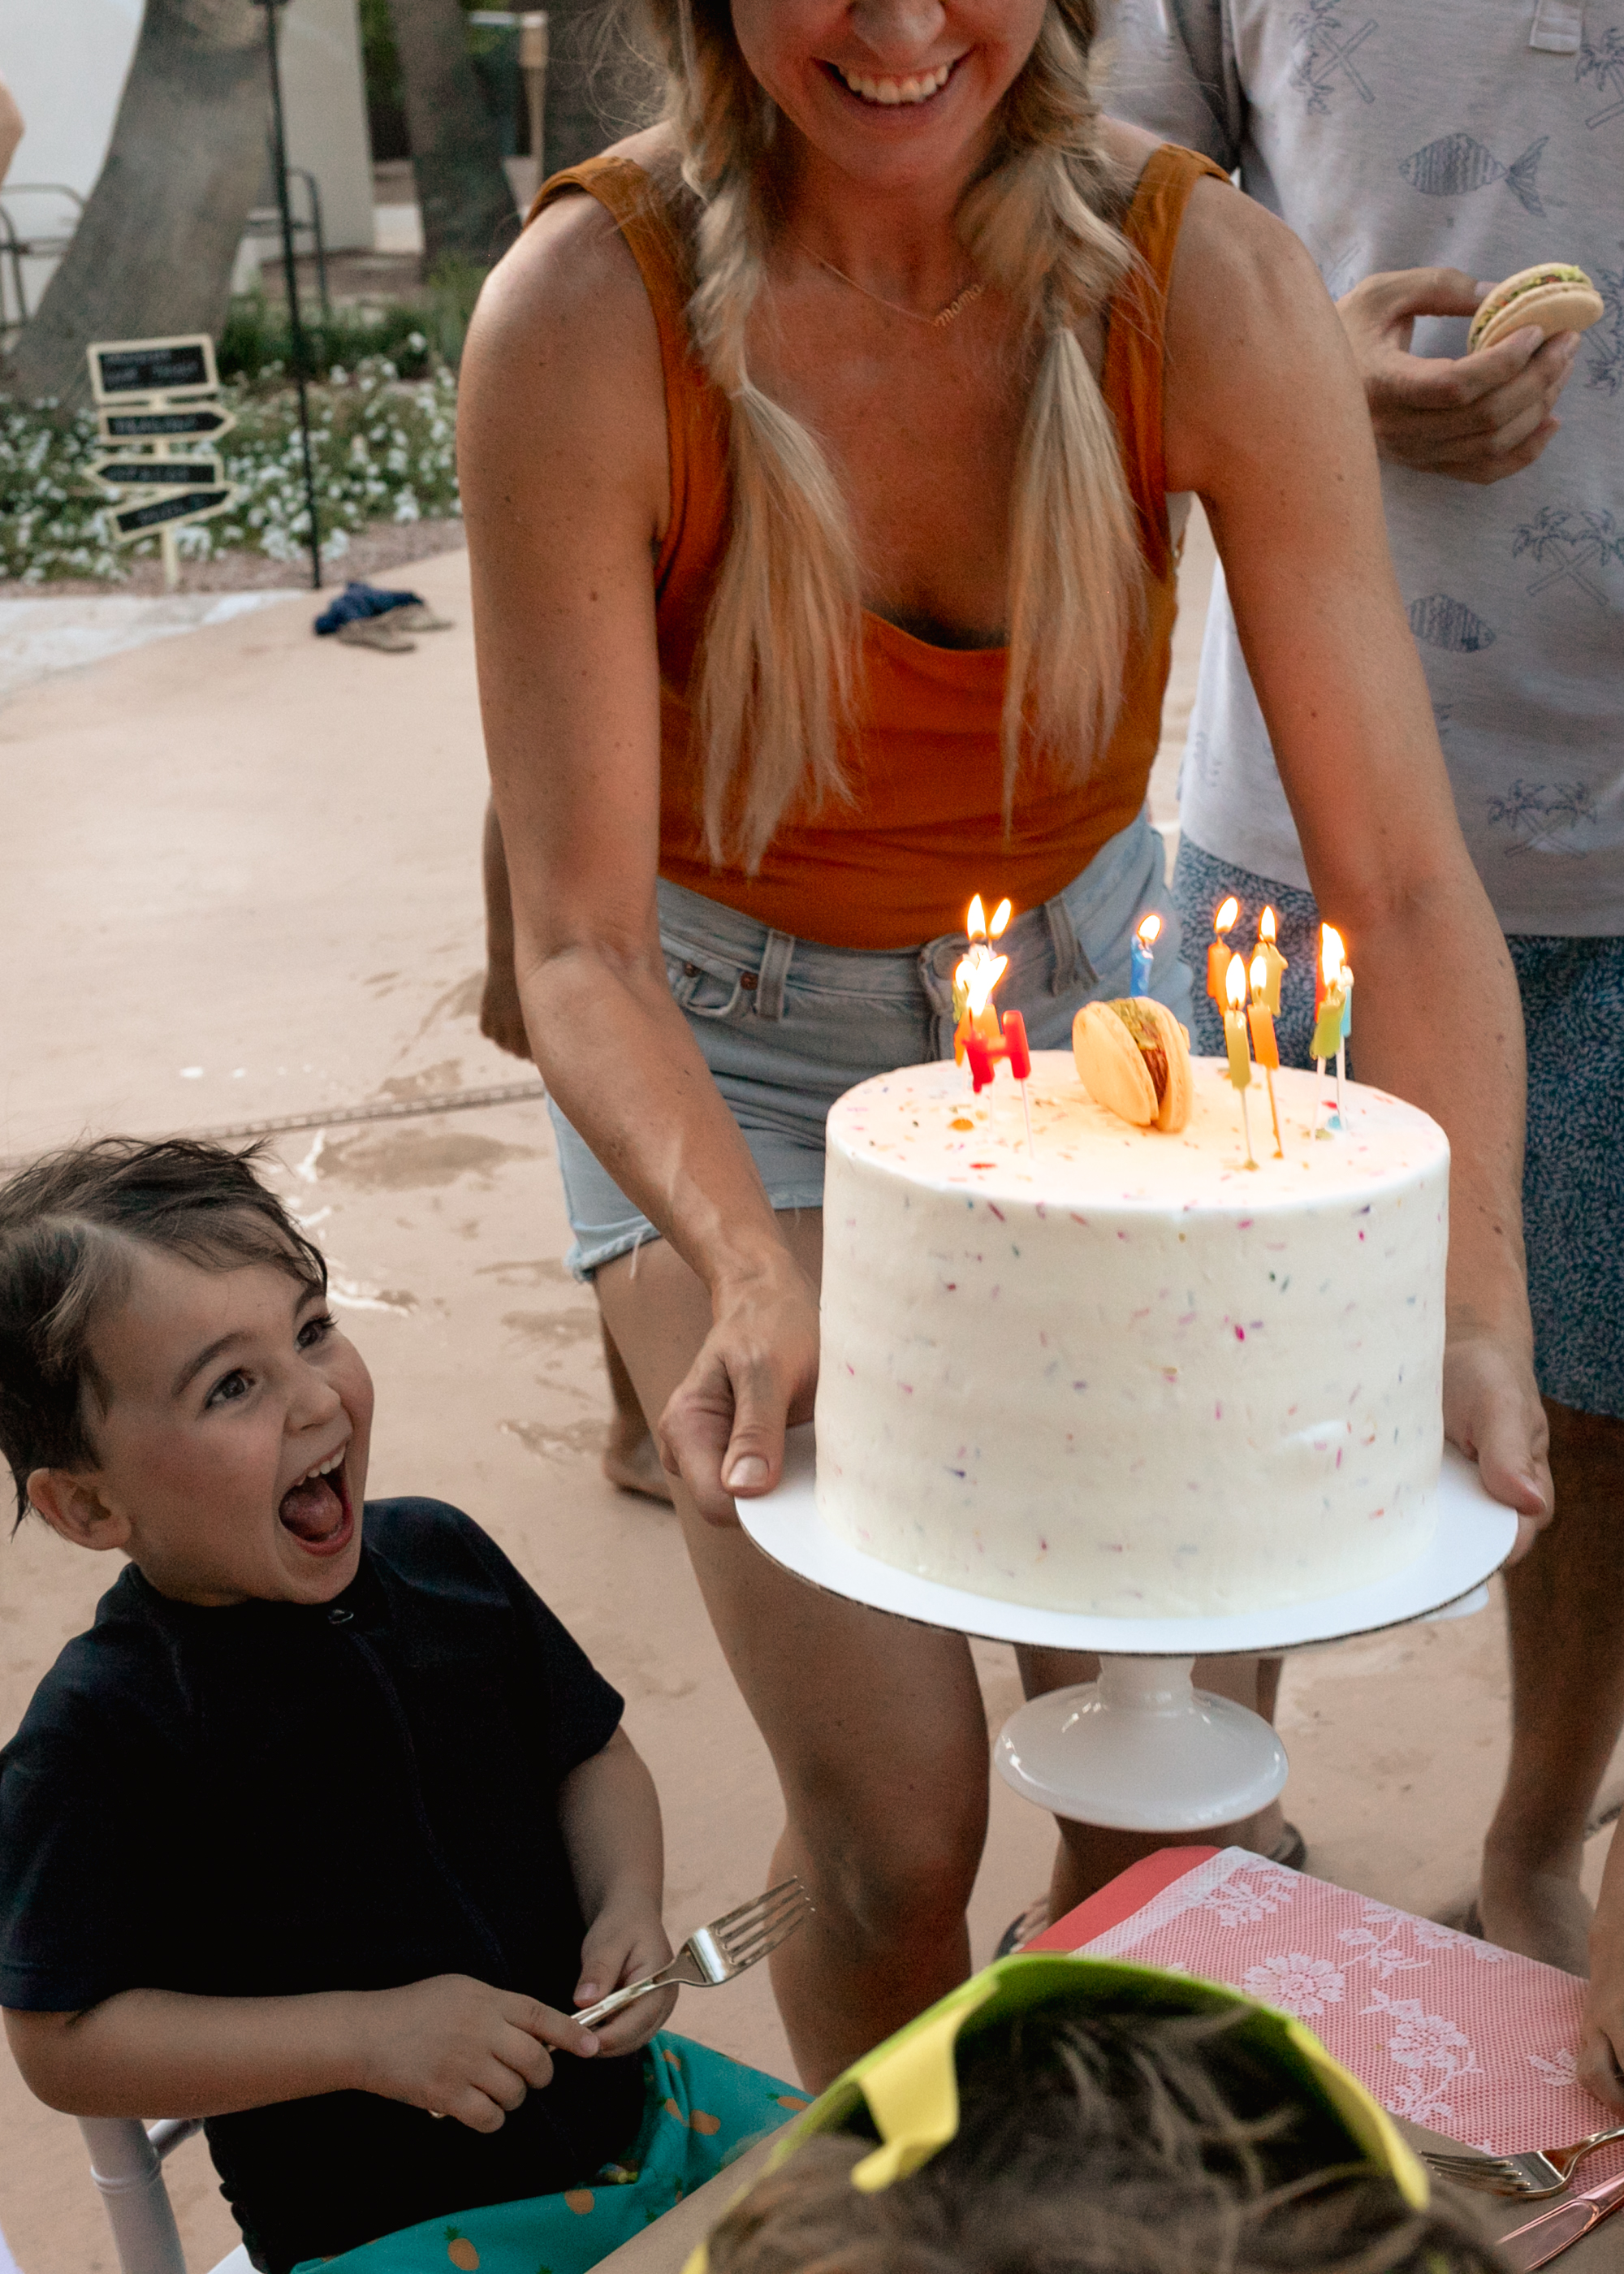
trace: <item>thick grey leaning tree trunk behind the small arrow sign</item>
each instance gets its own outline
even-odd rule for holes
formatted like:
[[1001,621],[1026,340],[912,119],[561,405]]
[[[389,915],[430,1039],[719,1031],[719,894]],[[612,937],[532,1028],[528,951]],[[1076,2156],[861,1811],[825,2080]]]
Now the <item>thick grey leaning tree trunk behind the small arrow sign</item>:
[[266,166],[266,18],[146,0],[107,164],[5,368],[23,400],[89,396],[93,339],[218,332]]

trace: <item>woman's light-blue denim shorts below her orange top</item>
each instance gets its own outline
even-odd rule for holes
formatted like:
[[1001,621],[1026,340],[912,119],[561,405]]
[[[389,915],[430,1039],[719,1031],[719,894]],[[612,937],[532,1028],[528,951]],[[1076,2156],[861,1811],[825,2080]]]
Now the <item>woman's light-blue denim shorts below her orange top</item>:
[[[996,882],[994,844],[992,896]],[[971,880],[967,898],[973,889]],[[1140,814],[1101,846],[1083,875],[1017,916],[999,941],[1010,969],[996,1005],[1021,1012],[1035,1051],[1069,1048],[1083,1003],[1128,994],[1133,926],[1149,910],[1162,919],[1151,991],[1190,1023],[1190,971],[1178,953],[1162,839]],[[964,932],[921,948],[828,948],[771,932],[660,878],[660,944],[671,994],[773,1207],[823,1205],[823,1123],[835,1098],[871,1073],[953,1055],[953,966],[964,955]],[[575,1278],[591,1278],[660,1235],[557,1105],[548,1101],[548,1110],[575,1233],[569,1264]]]

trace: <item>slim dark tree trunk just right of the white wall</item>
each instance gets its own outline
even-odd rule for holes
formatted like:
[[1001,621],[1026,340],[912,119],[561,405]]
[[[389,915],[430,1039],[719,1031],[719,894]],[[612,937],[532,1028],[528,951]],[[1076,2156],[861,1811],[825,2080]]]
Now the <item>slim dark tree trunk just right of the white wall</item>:
[[400,52],[423,262],[489,268],[519,232],[496,123],[469,61],[457,0],[389,0]]

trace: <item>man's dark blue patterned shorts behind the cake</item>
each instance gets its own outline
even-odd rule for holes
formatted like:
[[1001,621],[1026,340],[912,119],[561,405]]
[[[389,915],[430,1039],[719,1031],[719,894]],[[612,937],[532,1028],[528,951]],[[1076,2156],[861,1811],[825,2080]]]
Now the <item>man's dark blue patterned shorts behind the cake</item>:
[[[1240,901],[1235,939],[1251,939],[1265,901],[1278,919],[1290,971],[1281,982],[1276,1035],[1287,1067],[1308,1064],[1315,1019],[1319,910],[1294,885],[1215,860],[1190,839],[1178,848],[1174,901],[1201,939],[1226,894]],[[1528,1139],[1522,1228],[1528,1244],[1533,1371],[1547,1399],[1624,1419],[1624,939],[1506,941],[1528,1035]],[[1353,1003],[1349,1062],[1358,1051]],[[1196,1051],[1224,1048],[1217,1007],[1196,1001]]]

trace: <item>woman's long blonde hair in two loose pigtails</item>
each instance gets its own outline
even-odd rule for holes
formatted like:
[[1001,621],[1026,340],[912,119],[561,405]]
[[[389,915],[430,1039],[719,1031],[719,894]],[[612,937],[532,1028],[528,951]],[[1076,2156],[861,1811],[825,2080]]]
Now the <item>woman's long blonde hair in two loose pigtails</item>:
[[[739,55],[728,0],[648,7],[682,177],[701,205],[689,325],[732,407],[732,530],[698,684],[705,844],[716,864],[755,873],[792,803],[851,800],[839,737],[862,653],[860,566],[823,450],[746,366],[778,114]],[[1133,264],[1103,218],[1117,184],[1096,148],[1094,18],[1096,0],[1049,0],[999,150],[958,221],[978,271],[1042,332],[1012,496],[1005,821],[1028,750],[1087,775],[1117,716],[1142,600],[1117,432],[1076,339]]]

